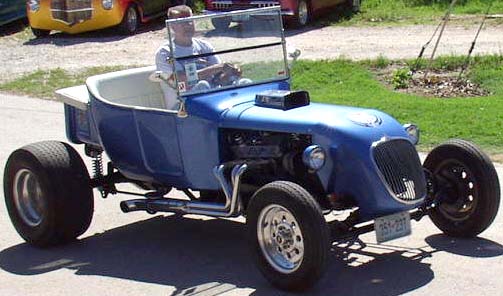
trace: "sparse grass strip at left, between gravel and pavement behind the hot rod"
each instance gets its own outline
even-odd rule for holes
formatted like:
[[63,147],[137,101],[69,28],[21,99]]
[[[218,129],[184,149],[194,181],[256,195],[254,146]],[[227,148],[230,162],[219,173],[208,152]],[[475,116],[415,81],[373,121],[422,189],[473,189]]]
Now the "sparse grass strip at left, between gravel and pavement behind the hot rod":
[[125,68],[123,66],[92,67],[79,72],[69,72],[60,68],[48,71],[38,70],[0,84],[0,90],[50,99],[54,97],[54,91],[57,89],[83,84],[86,78],[92,75]]

